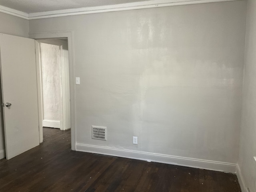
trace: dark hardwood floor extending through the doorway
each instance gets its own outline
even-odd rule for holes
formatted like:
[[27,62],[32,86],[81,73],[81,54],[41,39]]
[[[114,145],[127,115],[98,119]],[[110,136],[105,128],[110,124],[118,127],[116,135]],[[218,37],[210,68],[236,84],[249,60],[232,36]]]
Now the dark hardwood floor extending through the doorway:
[[0,160],[0,192],[240,192],[235,174],[70,150],[70,130]]

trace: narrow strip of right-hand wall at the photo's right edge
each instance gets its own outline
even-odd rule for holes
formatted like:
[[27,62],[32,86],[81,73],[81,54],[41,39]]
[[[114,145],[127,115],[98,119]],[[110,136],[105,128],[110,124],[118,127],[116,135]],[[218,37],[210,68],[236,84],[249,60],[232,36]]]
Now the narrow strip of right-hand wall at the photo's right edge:
[[[256,192],[256,1],[248,0],[242,123],[238,166],[244,186]],[[242,187],[242,186],[241,186]],[[246,190],[244,190],[246,191]]]

